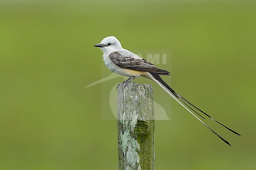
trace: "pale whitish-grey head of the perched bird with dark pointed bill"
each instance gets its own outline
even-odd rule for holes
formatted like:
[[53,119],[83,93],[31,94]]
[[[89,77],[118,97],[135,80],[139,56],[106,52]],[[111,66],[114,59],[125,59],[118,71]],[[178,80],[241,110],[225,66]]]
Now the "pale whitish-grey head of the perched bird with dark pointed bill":
[[99,47],[104,53],[110,53],[119,51],[122,49],[122,45],[114,36],[104,38],[100,44],[95,44],[95,47]]

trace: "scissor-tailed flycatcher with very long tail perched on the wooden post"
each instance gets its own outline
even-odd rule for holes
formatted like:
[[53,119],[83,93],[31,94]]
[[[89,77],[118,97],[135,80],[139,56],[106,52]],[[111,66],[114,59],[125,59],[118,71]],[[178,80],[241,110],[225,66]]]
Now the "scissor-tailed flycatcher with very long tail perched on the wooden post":
[[[240,136],[239,133],[234,130],[228,128],[224,124],[216,121],[210,115],[205,113],[204,111],[197,108],[191,102],[187,101],[184,97],[182,97],[179,93],[174,91],[163,79],[160,75],[170,75],[170,72],[164,69],[157,68],[154,64],[148,62],[147,60],[137,56],[136,54],[128,51],[127,49],[122,48],[121,43],[117,38],[111,36],[104,38],[100,44],[94,45],[95,47],[99,47],[103,51],[103,60],[106,66],[113,71],[114,73],[129,77],[124,82],[131,82],[137,77],[146,77],[148,79],[153,80],[157,84],[159,84],[173,99],[175,99],[180,105],[182,105],[189,113],[195,116],[200,122],[202,122],[207,128],[211,130],[215,135],[217,135],[221,140],[223,140],[226,144],[231,144],[226,141],[219,134],[214,132],[210,126],[204,123],[201,119],[199,119],[195,113],[197,113],[200,117],[205,119],[202,115],[200,115],[196,110],[203,113],[207,117],[210,117],[213,121],[221,124],[231,132]],[[185,106],[186,105],[186,106]],[[189,108],[195,112],[193,113]]]

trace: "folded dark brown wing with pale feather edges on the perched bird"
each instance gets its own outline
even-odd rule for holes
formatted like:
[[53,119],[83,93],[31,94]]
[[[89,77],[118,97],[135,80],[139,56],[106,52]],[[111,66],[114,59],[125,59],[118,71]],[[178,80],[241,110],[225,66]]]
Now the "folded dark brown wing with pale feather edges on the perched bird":
[[115,51],[109,54],[110,60],[117,66],[137,71],[159,73],[159,75],[170,75],[167,70],[159,69],[151,62],[126,51]]

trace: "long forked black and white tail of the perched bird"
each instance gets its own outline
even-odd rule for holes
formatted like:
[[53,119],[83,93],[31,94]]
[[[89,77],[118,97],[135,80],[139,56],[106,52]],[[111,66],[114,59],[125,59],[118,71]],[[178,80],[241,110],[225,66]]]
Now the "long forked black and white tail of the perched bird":
[[[194,110],[193,108],[197,109],[198,111],[200,111],[201,113],[203,113],[204,115],[206,115],[207,117],[210,117],[213,121],[221,124],[222,126],[224,126],[225,128],[227,128],[228,130],[230,130],[231,132],[237,134],[240,136],[239,133],[235,132],[234,130],[228,128],[227,126],[225,126],[224,124],[222,124],[219,121],[216,121],[215,119],[213,119],[210,115],[208,115],[207,113],[203,112],[202,110],[200,110],[199,108],[197,108],[195,105],[193,105],[191,102],[187,101],[184,97],[182,97],[179,93],[177,93],[176,91],[174,91],[161,77],[160,75],[158,75],[158,73],[150,73],[152,75],[152,77],[150,77],[150,79],[152,79],[153,81],[155,81],[157,84],[159,84],[169,95],[171,95],[171,97],[173,97],[173,99],[175,99],[180,105],[182,105],[189,113],[191,113],[193,116],[195,116],[200,122],[202,122],[207,128],[209,128],[211,130],[211,132],[213,132],[215,135],[217,135],[219,138],[221,138],[221,140],[223,140],[226,144],[230,145],[231,144],[226,141],[226,139],[224,139],[223,137],[221,137],[218,133],[216,133],[215,131],[213,131],[210,126],[208,126],[206,123],[204,123],[201,119],[199,119],[193,112],[191,112],[191,110],[193,110],[195,113],[197,113],[198,115],[200,115],[196,110]],[[185,105],[187,106],[185,106]],[[190,105],[190,106],[189,106]],[[193,108],[191,108],[191,106]],[[189,110],[189,108],[191,110]],[[200,115],[200,117],[202,117],[203,119],[205,119],[202,115]]]

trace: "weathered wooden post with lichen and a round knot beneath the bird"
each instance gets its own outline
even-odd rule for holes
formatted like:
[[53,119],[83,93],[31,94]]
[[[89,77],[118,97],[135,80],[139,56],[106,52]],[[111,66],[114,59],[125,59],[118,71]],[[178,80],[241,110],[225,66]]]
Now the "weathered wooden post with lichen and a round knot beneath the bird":
[[118,87],[117,132],[119,170],[154,170],[153,88],[122,83]]

